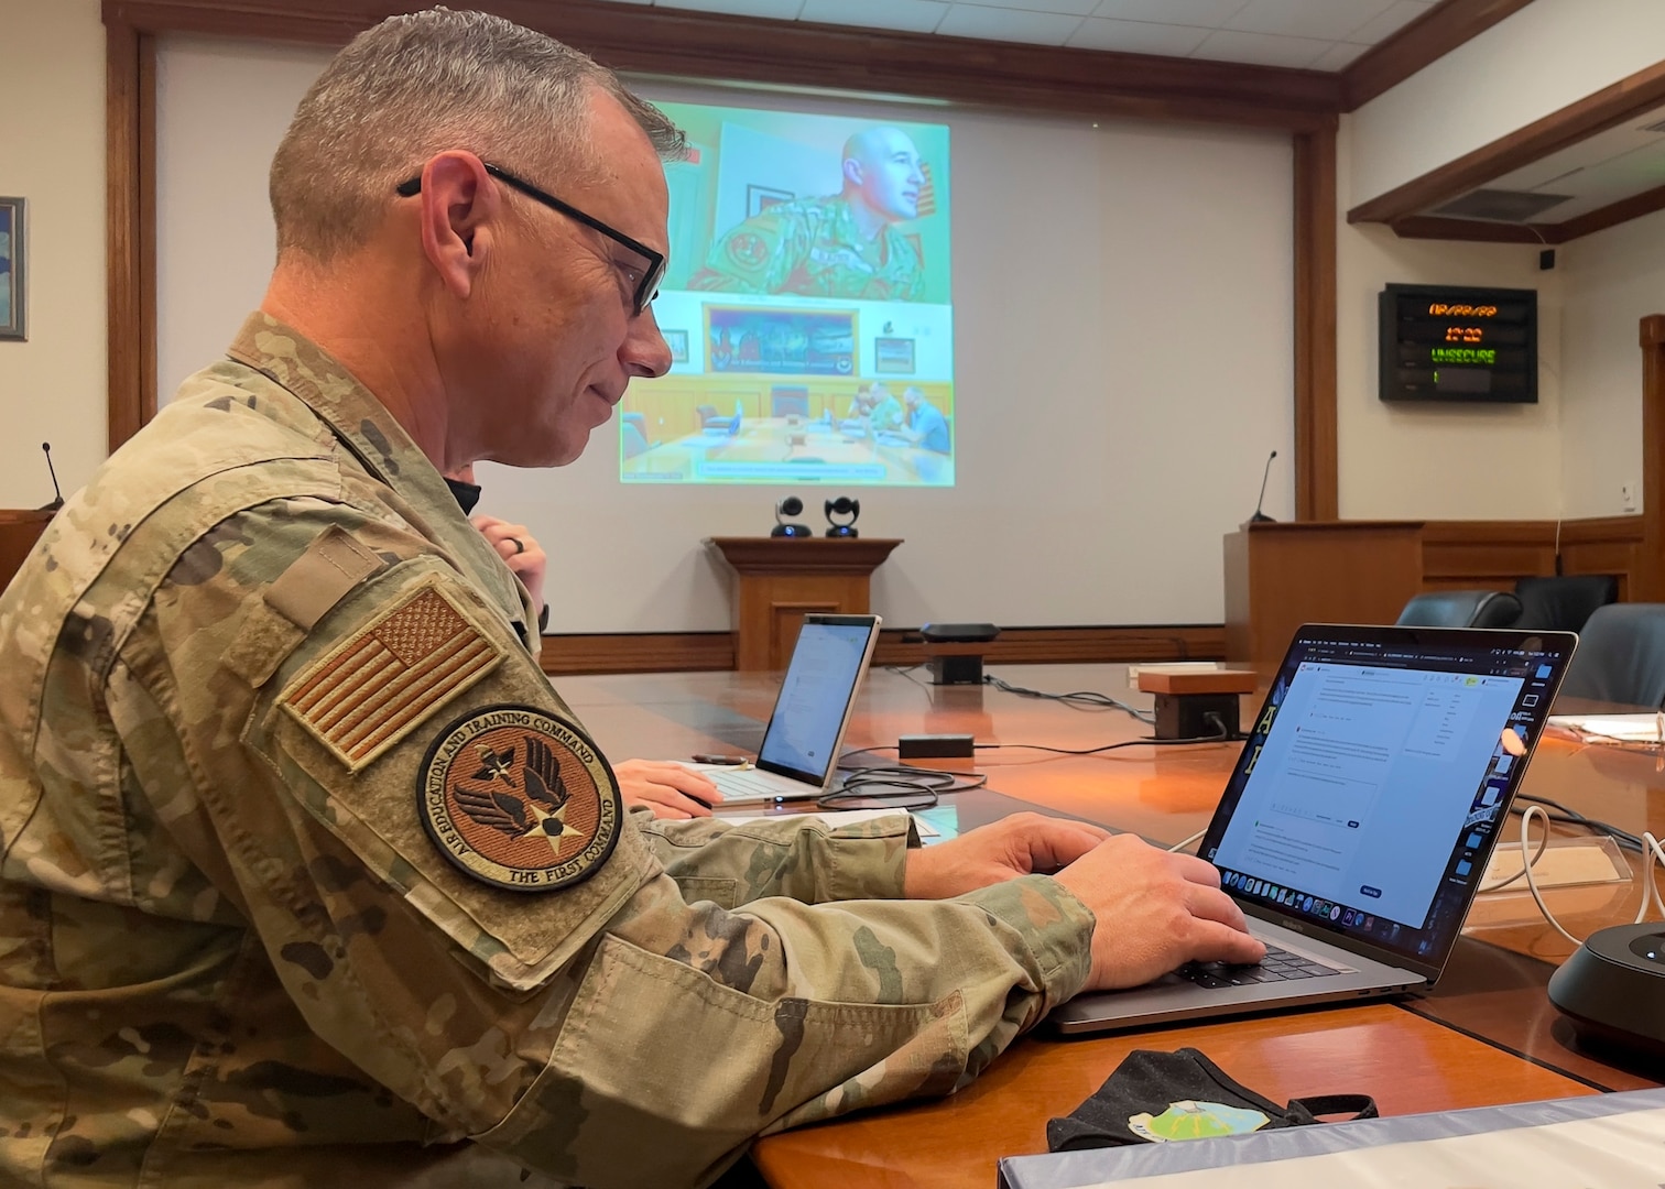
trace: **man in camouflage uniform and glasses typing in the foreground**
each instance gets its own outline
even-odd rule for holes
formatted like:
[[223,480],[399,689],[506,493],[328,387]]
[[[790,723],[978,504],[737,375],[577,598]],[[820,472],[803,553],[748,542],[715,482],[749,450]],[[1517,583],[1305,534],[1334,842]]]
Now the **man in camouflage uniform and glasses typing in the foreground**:
[[478,13],[308,92],[261,311],[0,598],[0,1182],[704,1184],[1259,954],[1212,868],[1082,824],[623,813],[441,471],[571,461],[668,370],[676,142]]

